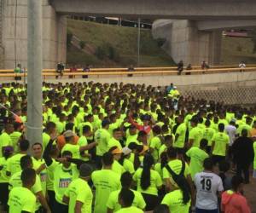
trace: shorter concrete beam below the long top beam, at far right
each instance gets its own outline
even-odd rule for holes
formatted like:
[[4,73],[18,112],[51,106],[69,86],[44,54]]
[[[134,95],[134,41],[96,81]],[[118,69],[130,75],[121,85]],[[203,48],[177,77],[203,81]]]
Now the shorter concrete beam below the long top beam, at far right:
[[256,26],[256,20],[198,20],[200,31],[213,31]]

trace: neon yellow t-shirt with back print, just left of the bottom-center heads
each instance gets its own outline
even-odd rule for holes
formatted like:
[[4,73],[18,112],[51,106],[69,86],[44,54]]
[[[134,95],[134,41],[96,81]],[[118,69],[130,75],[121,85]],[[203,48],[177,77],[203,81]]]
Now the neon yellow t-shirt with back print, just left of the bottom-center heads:
[[112,170],[96,170],[91,174],[96,187],[95,213],[107,212],[106,199],[110,193],[120,189],[120,176]]

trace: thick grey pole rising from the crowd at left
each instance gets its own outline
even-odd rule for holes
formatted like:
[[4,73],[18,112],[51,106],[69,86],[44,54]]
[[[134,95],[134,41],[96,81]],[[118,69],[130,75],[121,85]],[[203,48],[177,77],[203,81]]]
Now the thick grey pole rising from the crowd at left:
[[42,1],[27,5],[27,124],[30,143],[42,143]]

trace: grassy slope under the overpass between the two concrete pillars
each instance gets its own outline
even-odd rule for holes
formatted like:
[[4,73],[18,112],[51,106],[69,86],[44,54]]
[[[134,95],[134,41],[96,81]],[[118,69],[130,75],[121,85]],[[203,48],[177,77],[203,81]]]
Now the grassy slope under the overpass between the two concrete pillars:
[[[119,63],[112,60],[98,60],[96,55],[86,54],[72,47],[67,51],[67,63],[92,66],[137,65],[137,29],[122,26],[101,25],[81,20],[68,20],[68,30],[90,47],[96,49],[103,43],[110,43],[120,56]],[[149,30],[141,32],[141,66],[173,66],[170,56],[160,49]]]

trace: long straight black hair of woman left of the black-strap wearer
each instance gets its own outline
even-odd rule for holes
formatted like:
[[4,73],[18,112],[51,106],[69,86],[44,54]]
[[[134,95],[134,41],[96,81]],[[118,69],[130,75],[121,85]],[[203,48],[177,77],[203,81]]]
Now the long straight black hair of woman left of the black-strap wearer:
[[150,169],[154,164],[154,158],[151,154],[146,154],[143,159],[143,173],[141,177],[141,187],[146,190],[150,186]]

